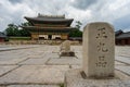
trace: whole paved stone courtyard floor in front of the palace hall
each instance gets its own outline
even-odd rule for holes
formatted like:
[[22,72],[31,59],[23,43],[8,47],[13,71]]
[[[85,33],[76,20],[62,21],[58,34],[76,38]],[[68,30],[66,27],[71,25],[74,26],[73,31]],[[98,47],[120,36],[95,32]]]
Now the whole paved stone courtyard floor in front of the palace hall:
[[[82,66],[82,47],[72,50],[60,58],[60,46],[0,46],[0,87],[62,87],[65,72]],[[115,65],[130,76],[130,47],[116,47]]]

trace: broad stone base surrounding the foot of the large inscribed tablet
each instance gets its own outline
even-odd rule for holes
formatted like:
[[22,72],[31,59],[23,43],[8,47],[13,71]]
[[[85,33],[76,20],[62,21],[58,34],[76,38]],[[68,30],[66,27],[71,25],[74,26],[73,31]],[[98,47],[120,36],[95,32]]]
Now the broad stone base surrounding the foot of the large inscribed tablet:
[[113,78],[83,78],[81,70],[70,70],[65,74],[65,87],[130,87],[130,77],[116,71]]

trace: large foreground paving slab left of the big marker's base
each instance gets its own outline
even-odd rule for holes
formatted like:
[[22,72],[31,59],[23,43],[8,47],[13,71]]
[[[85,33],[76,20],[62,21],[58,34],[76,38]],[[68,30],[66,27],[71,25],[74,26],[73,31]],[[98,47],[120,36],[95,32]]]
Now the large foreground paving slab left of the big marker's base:
[[61,84],[68,65],[23,65],[0,77],[0,85]]

